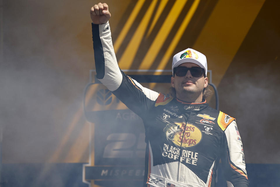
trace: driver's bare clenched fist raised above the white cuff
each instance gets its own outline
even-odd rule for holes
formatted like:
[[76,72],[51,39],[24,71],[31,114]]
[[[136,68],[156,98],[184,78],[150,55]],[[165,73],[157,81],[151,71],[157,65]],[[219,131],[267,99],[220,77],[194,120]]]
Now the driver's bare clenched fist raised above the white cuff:
[[108,5],[106,3],[98,3],[91,7],[90,18],[94,24],[106,23],[111,18]]

